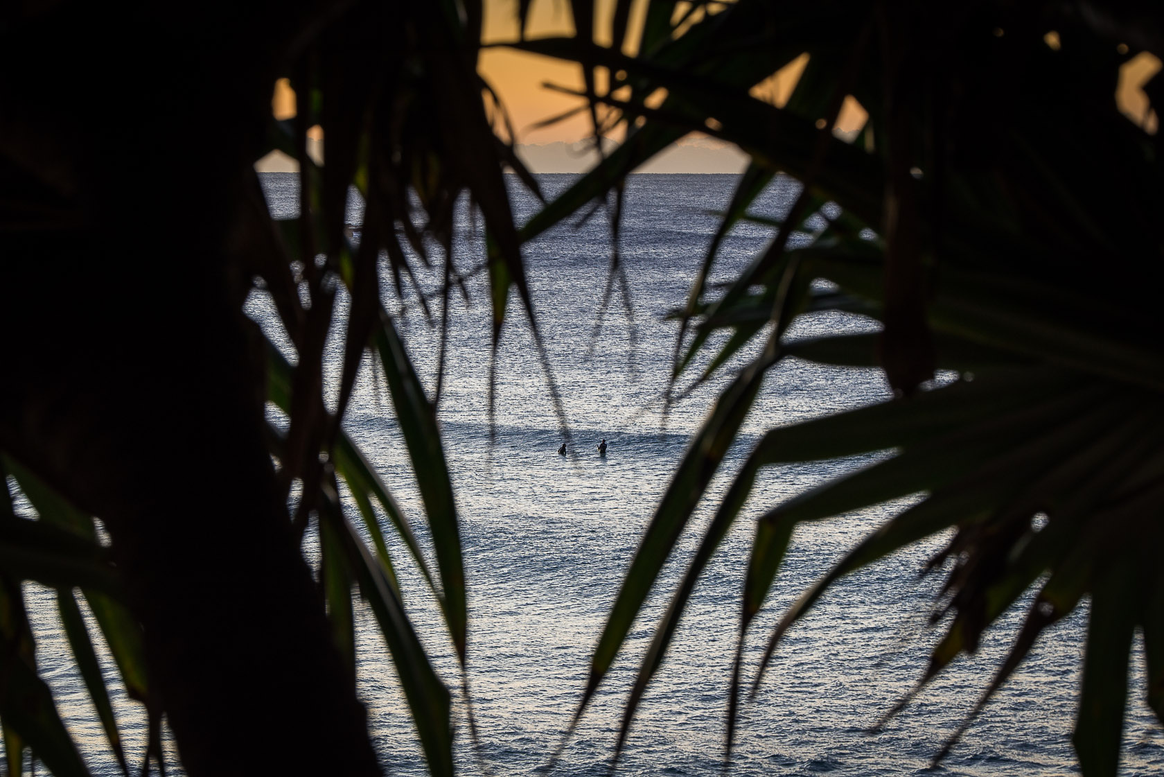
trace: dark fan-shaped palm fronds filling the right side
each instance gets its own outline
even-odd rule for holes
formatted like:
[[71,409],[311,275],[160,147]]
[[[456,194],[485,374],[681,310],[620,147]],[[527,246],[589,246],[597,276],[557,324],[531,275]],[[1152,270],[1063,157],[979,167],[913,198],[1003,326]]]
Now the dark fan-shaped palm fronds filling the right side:
[[[888,450],[890,458],[771,506],[758,521],[730,679],[729,751],[739,688],[751,669],[743,665],[744,637],[795,525],[923,493],[783,615],[747,680],[751,693],[781,637],[832,582],[953,529],[929,566],[946,573],[931,622],[951,619],[918,687],[959,654],[973,652],[982,630],[1034,586],[1027,621],[972,718],[1038,635],[1090,598],[1074,744],[1085,774],[1115,774],[1137,628],[1148,650],[1149,702],[1164,713],[1164,353],[1157,291],[1148,281],[1159,257],[1164,188],[1159,135],[1129,121],[1115,101],[1120,68],[1131,56],[1164,54],[1159,15],[1090,2],[741,0],[675,31],[673,5],[650,5],[633,57],[577,37],[523,44],[608,68],[615,73],[610,91],[591,99],[630,122],[625,143],[524,234],[601,196],[693,130],[731,141],[752,157],[723,229],[754,218],[748,209],[776,172],[804,185],[768,248],[719,295],[703,288],[716,259],[718,240],[712,242],[687,308],[676,311],[683,329],[673,384],[690,372],[712,332],[730,337],[693,383],[751,341],[762,344],[761,353],[719,396],[646,530],[599,638],[577,715],[622,648],[765,374],[796,355],[881,366],[896,398],[762,437],[655,627],[616,758],[687,599],[757,472]],[[700,5],[711,10],[718,3]],[[802,54],[808,64],[786,105],[750,96]],[[1161,84],[1157,73],[1145,87],[1154,105]],[[666,97],[652,104],[647,98],[658,90]],[[842,139],[832,128],[846,96],[868,119],[857,137]],[[825,203],[839,205],[839,214],[822,210]],[[810,234],[811,243],[790,249],[794,231]],[[833,288],[814,289],[815,278]],[[797,315],[818,311],[871,316],[881,331],[808,341],[785,335]],[[952,372],[935,381],[939,369]],[[1045,527],[1036,515],[1045,515]]]

